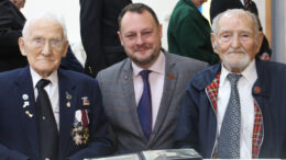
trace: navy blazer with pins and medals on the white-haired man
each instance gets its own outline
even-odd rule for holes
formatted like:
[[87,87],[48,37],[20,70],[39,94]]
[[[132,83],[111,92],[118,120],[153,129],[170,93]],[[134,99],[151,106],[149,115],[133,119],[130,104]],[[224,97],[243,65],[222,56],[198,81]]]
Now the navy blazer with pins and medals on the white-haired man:
[[[38,159],[35,98],[30,68],[0,73],[0,159]],[[58,159],[111,155],[113,146],[107,133],[108,124],[98,82],[85,75],[58,69]],[[89,138],[78,145],[72,136],[76,111],[87,111],[89,118]]]

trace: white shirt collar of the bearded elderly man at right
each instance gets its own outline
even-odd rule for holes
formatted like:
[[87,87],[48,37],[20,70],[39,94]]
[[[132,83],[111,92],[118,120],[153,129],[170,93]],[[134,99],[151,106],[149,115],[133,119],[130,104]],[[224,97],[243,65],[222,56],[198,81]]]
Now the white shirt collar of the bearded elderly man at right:
[[[220,87],[224,84],[227,76],[230,71],[221,64],[221,75],[220,75]],[[242,77],[248,80],[250,83],[254,83],[257,79],[255,59],[253,59],[250,65],[241,72]]]

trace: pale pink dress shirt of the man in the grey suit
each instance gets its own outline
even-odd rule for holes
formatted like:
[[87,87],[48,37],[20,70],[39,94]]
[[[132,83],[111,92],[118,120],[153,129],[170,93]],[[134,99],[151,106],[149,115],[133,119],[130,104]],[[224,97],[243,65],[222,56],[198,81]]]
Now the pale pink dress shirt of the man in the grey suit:
[[[133,68],[133,82],[136,105],[143,93],[143,80],[140,71],[144,70],[138,65],[132,62]],[[148,75],[151,100],[152,100],[152,129],[155,126],[156,117],[158,114],[160,103],[163,94],[164,78],[165,78],[165,56],[161,52],[158,59],[148,68],[152,72]]]

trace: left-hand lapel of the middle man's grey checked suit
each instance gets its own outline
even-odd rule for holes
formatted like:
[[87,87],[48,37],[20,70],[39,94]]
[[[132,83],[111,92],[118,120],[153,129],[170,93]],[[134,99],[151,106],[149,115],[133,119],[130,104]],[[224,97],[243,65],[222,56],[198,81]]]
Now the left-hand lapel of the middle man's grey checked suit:
[[144,136],[143,130],[141,128],[141,124],[139,121],[138,115],[138,107],[135,102],[135,93],[134,93],[134,82],[133,82],[133,69],[131,66],[131,60],[128,58],[124,67],[123,67],[123,75],[122,75],[122,91],[125,96],[127,107],[130,107],[131,113],[127,115],[132,116],[133,128],[138,130],[141,137],[144,137],[144,140],[147,138]]

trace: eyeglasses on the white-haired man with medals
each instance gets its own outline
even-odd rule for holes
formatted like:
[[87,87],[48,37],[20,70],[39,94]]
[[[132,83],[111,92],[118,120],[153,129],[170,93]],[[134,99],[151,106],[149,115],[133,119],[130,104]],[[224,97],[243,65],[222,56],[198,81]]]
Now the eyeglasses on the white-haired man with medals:
[[[26,41],[26,38],[24,38],[24,41]],[[61,48],[64,44],[64,41],[59,38],[45,39],[42,37],[36,37],[31,39],[31,45],[36,48],[42,48],[45,46],[46,42],[48,42],[52,48]]]

